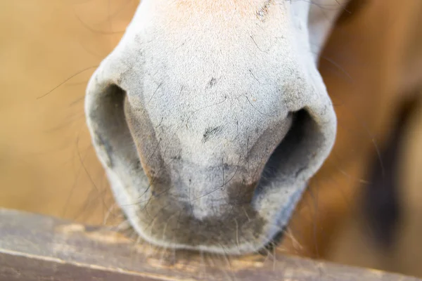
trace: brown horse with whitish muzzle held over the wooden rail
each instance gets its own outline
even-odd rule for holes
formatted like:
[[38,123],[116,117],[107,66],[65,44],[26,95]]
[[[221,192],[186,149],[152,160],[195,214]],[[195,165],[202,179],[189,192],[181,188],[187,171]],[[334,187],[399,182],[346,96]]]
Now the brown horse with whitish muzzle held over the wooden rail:
[[418,98],[421,9],[141,1],[85,98],[98,159],[136,233],[171,249],[323,254],[368,170],[385,174],[379,156]]

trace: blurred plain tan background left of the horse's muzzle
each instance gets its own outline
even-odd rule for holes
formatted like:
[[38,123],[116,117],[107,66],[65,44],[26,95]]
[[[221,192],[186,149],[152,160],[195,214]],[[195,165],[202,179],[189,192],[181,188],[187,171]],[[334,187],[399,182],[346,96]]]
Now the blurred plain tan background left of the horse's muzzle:
[[84,91],[137,4],[1,1],[2,207],[103,222],[113,201],[85,126]]

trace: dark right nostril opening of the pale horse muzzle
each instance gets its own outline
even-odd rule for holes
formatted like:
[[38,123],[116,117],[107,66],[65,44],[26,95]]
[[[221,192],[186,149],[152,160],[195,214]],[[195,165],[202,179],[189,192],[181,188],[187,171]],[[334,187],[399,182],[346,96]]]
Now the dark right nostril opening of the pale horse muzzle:
[[306,110],[293,114],[293,122],[283,141],[275,148],[262,170],[255,195],[277,181],[296,181],[309,162],[317,157],[324,136]]

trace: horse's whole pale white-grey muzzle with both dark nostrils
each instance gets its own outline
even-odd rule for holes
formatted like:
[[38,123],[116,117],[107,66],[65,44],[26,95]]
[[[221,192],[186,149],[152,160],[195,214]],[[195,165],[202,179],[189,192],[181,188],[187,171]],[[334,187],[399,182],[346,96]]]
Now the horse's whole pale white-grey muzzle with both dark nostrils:
[[137,233],[166,247],[255,251],[328,156],[335,115],[308,32],[289,32],[293,6],[272,5],[257,22],[242,1],[205,2],[140,6],[89,82],[87,124]]

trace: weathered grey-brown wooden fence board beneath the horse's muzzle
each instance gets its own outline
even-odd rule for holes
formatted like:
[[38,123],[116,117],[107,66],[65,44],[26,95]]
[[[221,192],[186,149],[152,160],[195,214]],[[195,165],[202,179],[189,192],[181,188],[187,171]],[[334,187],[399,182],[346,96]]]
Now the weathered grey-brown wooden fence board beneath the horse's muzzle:
[[0,209],[0,280],[418,279],[292,256],[162,251],[106,228]]

